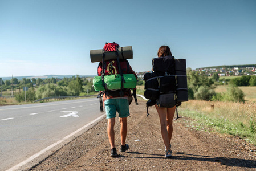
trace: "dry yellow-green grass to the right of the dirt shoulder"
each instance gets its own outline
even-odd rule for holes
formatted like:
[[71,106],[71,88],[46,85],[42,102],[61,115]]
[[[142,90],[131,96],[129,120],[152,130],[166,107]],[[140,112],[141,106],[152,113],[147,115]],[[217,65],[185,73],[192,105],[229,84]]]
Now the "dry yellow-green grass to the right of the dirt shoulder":
[[178,109],[199,125],[208,125],[220,133],[238,136],[256,145],[256,103],[189,100]]

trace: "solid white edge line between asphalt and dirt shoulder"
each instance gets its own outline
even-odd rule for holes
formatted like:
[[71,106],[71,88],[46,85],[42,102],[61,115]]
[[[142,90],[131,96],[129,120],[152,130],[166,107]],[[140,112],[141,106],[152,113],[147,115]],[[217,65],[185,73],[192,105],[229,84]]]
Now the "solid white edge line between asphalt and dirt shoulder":
[[90,126],[91,124],[93,124],[94,122],[96,122],[96,121],[102,119],[103,117],[105,117],[105,115],[101,115],[100,117],[96,118],[95,120],[91,121],[90,123],[84,125],[82,128],[79,128],[79,129],[76,130],[75,132],[72,132],[70,135],[67,135],[67,136],[64,137],[62,140],[59,140],[59,141],[57,141],[56,143],[54,143],[54,144],[52,144],[52,145],[50,145],[50,146],[47,146],[47,148],[41,150],[40,152],[34,154],[33,156],[27,158],[26,160],[20,162],[19,164],[13,166],[12,168],[10,168],[10,169],[8,169],[8,170],[6,170],[6,171],[13,171],[13,170],[19,169],[21,166],[23,166],[23,165],[27,164],[28,162],[34,160],[36,157],[38,157],[38,156],[40,156],[41,154],[47,152],[47,151],[50,150],[51,148],[54,148],[54,146],[56,146],[56,145],[62,143],[64,140],[67,140],[68,138],[74,136],[76,133],[82,131],[84,128]]

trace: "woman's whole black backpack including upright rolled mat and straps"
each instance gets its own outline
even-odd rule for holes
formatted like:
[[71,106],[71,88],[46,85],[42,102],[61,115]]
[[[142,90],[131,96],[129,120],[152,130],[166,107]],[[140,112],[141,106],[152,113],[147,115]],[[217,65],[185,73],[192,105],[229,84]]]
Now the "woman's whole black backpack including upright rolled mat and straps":
[[152,66],[153,72],[146,73],[143,78],[144,96],[149,99],[148,115],[149,106],[157,104],[170,108],[176,105],[177,108],[181,101],[188,101],[185,59],[175,59],[174,56],[153,58]]

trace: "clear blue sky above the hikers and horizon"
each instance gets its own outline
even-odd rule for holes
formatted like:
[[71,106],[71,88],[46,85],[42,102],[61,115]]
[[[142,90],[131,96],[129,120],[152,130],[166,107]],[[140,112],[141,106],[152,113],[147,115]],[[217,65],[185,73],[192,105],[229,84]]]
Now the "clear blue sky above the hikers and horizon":
[[136,72],[162,45],[192,69],[256,64],[256,1],[0,0],[0,78],[96,75],[105,42],[132,46]]

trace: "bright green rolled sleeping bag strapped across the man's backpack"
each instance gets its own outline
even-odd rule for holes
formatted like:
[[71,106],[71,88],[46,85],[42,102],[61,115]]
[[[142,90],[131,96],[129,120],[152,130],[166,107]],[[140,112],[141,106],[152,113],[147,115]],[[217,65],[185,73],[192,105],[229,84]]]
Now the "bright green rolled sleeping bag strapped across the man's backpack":
[[[135,88],[137,84],[137,79],[134,74],[124,74],[124,88]],[[109,90],[118,90],[121,89],[121,75],[105,75],[104,76],[105,86]],[[104,91],[104,87],[102,86],[101,76],[95,76],[94,80],[94,89],[95,91]]]

